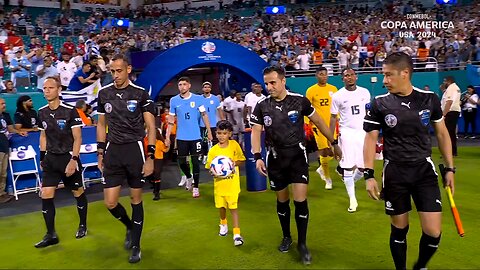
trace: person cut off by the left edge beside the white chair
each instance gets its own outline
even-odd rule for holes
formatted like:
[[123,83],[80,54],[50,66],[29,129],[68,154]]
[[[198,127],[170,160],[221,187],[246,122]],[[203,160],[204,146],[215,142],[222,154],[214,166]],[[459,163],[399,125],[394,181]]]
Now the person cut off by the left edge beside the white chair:
[[6,203],[13,198],[13,196],[5,192],[8,153],[10,152],[7,132],[18,133],[21,136],[26,135],[25,132],[18,131],[13,127],[12,118],[5,110],[5,99],[0,98],[0,203]]

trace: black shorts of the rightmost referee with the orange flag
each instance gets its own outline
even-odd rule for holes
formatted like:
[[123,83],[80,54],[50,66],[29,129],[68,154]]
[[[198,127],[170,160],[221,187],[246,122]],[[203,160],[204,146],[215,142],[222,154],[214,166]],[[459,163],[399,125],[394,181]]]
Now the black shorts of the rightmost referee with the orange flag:
[[401,215],[412,210],[411,198],[419,212],[442,212],[438,177],[431,158],[414,164],[385,160],[382,196],[387,215]]

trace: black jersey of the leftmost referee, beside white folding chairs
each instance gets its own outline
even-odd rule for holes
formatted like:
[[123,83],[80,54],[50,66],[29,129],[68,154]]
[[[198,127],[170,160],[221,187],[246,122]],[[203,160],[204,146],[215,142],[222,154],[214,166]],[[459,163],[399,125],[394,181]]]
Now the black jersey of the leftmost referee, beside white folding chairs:
[[66,154],[73,149],[72,128],[83,127],[82,118],[77,110],[63,102],[57,109],[52,110],[48,105],[38,111],[40,130],[45,131],[47,137],[47,152]]

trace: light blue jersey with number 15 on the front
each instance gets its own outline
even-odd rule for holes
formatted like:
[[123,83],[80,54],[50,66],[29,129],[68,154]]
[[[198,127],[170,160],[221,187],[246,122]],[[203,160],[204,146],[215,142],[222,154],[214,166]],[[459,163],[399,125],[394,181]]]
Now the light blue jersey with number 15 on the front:
[[177,140],[200,140],[200,118],[205,112],[203,96],[190,93],[188,98],[176,95],[170,99],[170,115],[177,116]]

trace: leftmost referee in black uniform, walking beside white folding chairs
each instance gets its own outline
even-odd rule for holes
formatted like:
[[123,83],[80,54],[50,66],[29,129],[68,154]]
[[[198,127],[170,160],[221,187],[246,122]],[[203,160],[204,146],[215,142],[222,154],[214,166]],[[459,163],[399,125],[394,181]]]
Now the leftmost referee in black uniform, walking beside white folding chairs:
[[[42,175],[42,213],[47,225],[47,234],[35,247],[43,248],[58,244],[55,232],[55,205],[53,198],[60,180],[69,187],[80,216],[76,238],[87,234],[87,208],[78,158],[82,145],[82,119],[77,110],[60,101],[60,81],[49,77],[43,85],[43,94],[48,105],[40,108],[40,160]],[[46,151],[46,152],[45,152]]]

